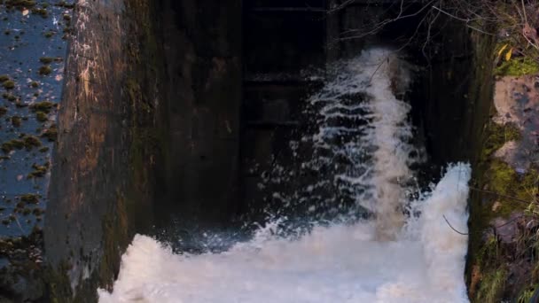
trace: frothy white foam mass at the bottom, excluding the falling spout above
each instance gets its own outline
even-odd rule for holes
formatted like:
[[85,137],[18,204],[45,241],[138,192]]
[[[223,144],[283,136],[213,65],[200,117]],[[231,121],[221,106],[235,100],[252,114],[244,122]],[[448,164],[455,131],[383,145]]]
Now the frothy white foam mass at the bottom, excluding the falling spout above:
[[226,253],[178,255],[138,235],[100,302],[467,302],[467,237],[442,216],[466,232],[469,178],[469,166],[450,167],[395,241],[363,222],[294,241],[262,231]]

